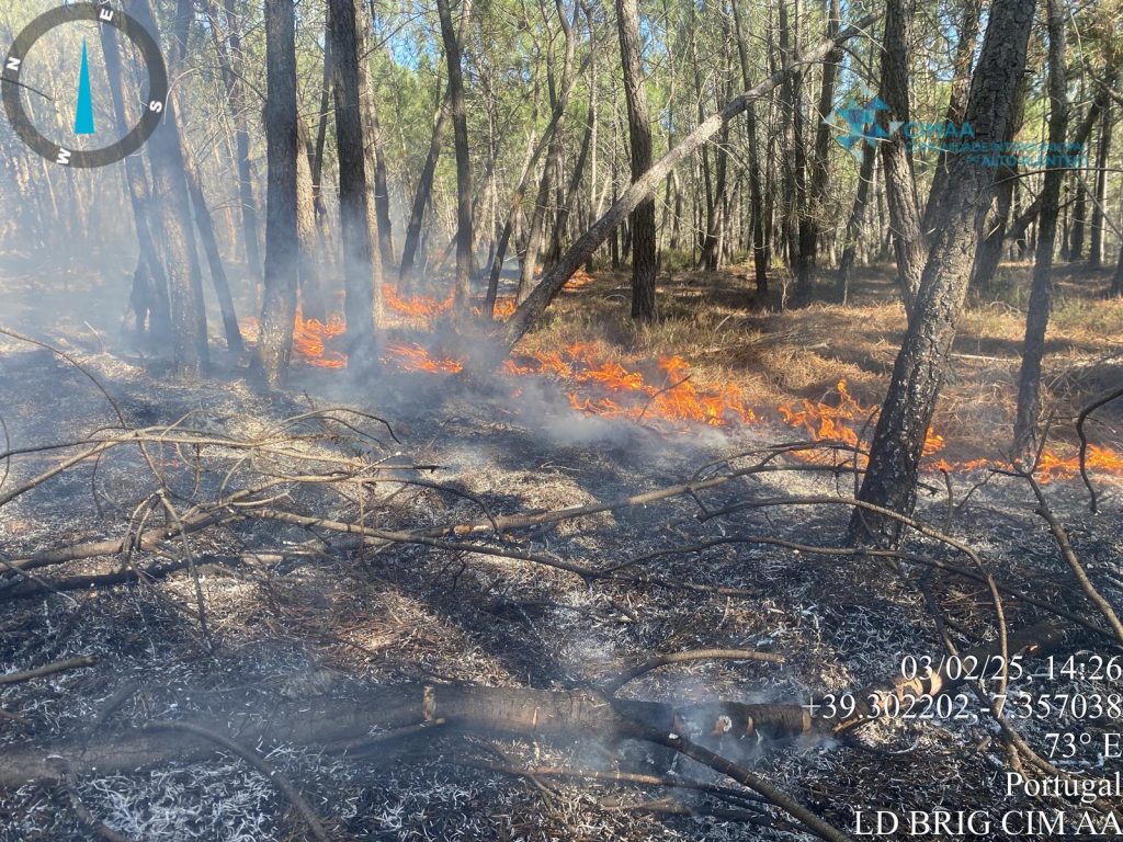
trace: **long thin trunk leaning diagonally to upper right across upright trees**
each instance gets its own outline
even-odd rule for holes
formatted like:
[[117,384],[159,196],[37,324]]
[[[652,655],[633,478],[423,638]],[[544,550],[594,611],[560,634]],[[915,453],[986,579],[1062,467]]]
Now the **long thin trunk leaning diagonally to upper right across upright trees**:
[[612,231],[623,219],[634,210],[640,202],[649,199],[659,183],[667,177],[672,170],[695,153],[699,147],[718,134],[722,125],[740,115],[755,98],[776,88],[788,73],[795,71],[796,63],[815,62],[825,57],[839,43],[846,43],[858,35],[865,27],[876,21],[880,15],[867,15],[852,26],[847,27],[834,39],[824,40],[814,48],[806,51],[797,57],[796,62],[785,65],[773,73],[756,86],[737,97],[721,111],[711,115],[699,126],[686,135],[675,148],[667,152],[650,170],[639,180],[633,182],[619,200],[612,203],[605,213],[597,219],[588,229],[577,238],[558,260],[558,264],[542,275],[533,292],[527,298],[522,305],[508,320],[503,330],[503,339],[506,345],[513,346],[530,329],[533,321],[549,305],[550,301],[562,291],[573,273],[588,259],[588,256],[604,242]]

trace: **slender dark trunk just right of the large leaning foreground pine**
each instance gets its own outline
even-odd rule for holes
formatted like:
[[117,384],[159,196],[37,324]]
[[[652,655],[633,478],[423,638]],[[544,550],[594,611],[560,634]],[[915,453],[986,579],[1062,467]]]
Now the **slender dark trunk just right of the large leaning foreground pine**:
[[[1061,0],[1048,1],[1049,18],[1049,148],[1065,146],[1068,129],[1067,82],[1065,79],[1065,17]],[[1059,156],[1057,156],[1059,157]],[[1062,162],[1047,166],[1041,187],[1041,213],[1038,217],[1038,249],[1033,263],[1033,285],[1025,317],[1025,342],[1022,369],[1017,378],[1017,418],[1014,421],[1014,454],[1026,467],[1037,450],[1038,418],[1041,414],[1041,359],[1046,351],[1049,324],[1049,298],[1052,285],[1053,246],[1057,242],[1057,216],[1060,208]]]

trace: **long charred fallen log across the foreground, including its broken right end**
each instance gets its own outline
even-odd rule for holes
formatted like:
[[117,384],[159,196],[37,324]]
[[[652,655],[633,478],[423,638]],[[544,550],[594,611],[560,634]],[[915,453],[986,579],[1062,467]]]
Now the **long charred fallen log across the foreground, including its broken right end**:
[[[1008,652],[1040,657],[1056,651],[1066,630],[1042,622],[1008,637]],[[997,643],[961,653],[979,662],[997,653]],[[935,659],[939,661],[939,659]],[[952,676],[941,665],[932,676],[905,680],[900,675],[867,686],[856,694],[859,710],[848,720],[812,716],[812,705],[740,704],[715,701],[709,704],[672,705],[661,702],[608,699],[591,689],[554,692],[521,687],[475,685],[400,684],[365,688],[362,698],[314,698],[270,705],[263,714],[241,706],[221,717],[200,714],[212,730],[235,734],[240,742],[258,741],[296,745],[322,745],[355,741],[375,731],[405,729],[445,720],[446,730],[513,734],[535,739],[587,738],[603,742],[650,739],[652,733],[675,733],[706,744],[720,740],[755,738],[754,742],[788,740],[800,735],[838,734],[868,719],[862,710],[868,697],[912,693],[937,696],[962,684],[965,675]],[[203,705],[206,707],[206,705]],[[424,731],[422,729],[422,731]],[[191,733],[153,732],[141,727],[107,731],[99,740],[71,742],[30,741],[4,747],[0,756],[0,786],[20,787],[37,780],[57,780],[62,757],[75,775],[130,772],[145,766],[198,760],[213,752],[213,744]]]

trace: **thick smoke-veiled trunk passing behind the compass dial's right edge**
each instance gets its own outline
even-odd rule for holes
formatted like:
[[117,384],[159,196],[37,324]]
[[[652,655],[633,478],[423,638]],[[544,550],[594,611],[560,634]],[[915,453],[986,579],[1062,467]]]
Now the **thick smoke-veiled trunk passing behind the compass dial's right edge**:
[[[176,19],[186,17],[190,20],[191,13],[190,0],[179,0]],[[156,31],[148,0],[135,0],[134,15],[137,22]],[[182,51],[173,44],[168,58],[171,77],[175,77],[182,58]],[[175,367],[182,374],[199,376],[208,365],[207,312],[203,309],[202,273],[173,110],[168,106],[164,121],[147,143],[152,163],[153,209],[156,239],[162,244],[167,277]]]

